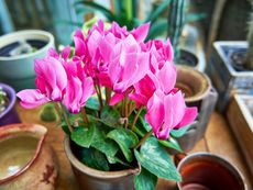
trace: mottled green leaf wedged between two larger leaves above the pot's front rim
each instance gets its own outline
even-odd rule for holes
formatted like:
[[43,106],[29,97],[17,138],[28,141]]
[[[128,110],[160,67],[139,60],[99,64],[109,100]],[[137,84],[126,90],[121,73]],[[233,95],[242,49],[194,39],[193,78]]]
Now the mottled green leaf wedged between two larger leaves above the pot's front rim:
[[102,152],[107,156],[114,156],[119,149],[119,146],[114,141],[107,138],[107,132],[105,126],[95,127],[95,136],[91,142],[91,146]]

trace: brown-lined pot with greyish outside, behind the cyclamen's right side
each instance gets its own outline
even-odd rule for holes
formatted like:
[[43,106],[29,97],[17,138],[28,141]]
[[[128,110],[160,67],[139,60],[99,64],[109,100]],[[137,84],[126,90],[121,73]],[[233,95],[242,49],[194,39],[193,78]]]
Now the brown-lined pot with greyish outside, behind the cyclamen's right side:
[[218,94],[207,75],[188,66],[177,66],[176,87],[185,93],[188,107],[198,108],[196,122],[183,137],[178,138],[183,150],[189,152],[204,137]]

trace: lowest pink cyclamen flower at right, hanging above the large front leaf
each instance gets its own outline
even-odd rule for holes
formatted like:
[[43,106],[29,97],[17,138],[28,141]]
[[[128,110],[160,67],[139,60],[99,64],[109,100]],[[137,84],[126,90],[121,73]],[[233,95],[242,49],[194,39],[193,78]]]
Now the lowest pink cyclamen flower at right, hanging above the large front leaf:
[[166,139],[173,128],[190,124],[197,116],[197,108],[187,108],[180,91],[164,94],[155,91],[147,102],[146,121],[157,138]]

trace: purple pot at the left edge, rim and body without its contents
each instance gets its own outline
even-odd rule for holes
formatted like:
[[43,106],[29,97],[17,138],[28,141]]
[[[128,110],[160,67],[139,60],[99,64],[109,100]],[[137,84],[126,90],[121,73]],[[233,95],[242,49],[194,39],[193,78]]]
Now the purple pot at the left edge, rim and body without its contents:
[[0,127],[2,125],[11,124],[11,123],[20,123],[19,115],[15,110],[15,91],[8,85],[1,83],[0,87],[7,93],[9,99],[9,104],[3,112],[0,113]]

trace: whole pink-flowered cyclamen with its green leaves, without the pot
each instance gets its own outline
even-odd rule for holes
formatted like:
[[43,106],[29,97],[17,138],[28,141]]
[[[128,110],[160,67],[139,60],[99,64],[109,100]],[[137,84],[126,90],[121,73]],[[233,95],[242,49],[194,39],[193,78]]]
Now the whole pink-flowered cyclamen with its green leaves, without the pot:
[[[116,22],[105,29],[99,21],[87,36],[77,30],[75,55],[69,56],[69,46],[61,55],[50,49],[35,60],[37,88],[16,94],[28,109],[55,102],[64,131],[89,167],[140,167],[135,189],[154,189],[157,178],[180,181],[166,147],[180,150],[174,137],[197,116],[197,109],[187,108],[175,88],[169,40],[144,42],[148,27],[129,32]],[[99,154],[91,156],[95,150]]]

